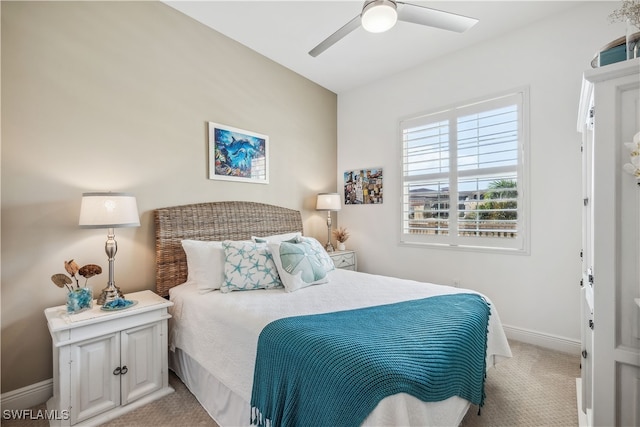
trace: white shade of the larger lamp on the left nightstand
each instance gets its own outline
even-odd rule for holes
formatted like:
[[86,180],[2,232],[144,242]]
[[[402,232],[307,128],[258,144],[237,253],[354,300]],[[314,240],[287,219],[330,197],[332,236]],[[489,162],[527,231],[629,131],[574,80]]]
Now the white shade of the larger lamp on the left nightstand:
[[80,227],[139,227],[136,198],[127,193],[84,193],[80,205]]

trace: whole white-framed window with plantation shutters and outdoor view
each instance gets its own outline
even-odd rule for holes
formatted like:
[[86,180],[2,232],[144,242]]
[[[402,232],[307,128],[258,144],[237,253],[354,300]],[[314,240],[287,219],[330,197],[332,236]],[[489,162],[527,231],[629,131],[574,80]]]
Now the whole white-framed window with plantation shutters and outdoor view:
[[402,242],[525,250],[527,95],[400,122]]

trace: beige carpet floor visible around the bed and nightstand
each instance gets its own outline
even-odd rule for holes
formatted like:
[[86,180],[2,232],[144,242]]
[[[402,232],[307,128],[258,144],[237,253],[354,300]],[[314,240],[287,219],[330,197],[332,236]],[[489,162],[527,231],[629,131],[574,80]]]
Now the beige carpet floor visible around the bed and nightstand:
[[[509,343],[513,358],[489,371],[481,415],[478,408],[472,406],[461,426],[577,426],[576,378],[580,376],[580,358],[517,341]],[[175,393],[103,426],[217,426],[173,372],[169,383]],[[44,410],[45,405],[31,409],[35,414]],[[49,425],[46,420],[5,419],[1,424],[6,427]]]

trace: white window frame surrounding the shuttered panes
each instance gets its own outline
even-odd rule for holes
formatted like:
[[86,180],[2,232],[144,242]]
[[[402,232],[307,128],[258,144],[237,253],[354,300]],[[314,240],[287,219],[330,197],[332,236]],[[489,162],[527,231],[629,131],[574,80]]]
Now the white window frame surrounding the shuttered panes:
[[[473,175],[469,171],[459,173],[457,165],[457,119],[469,114],[482,113],[495,108],[518,105],[518,160],[515,167],[517,179],[517,206],[518,206],[518,234],[515,238],[483,237],[483,236],[459,236],[458,235],[458,203],[450,203],[449,221],[453,218],[454,226],[449,223],[447,235],[413,234],[405,233],[405,222],[408,221],[409,209],[405,212],[405,206],[409,206],[408,196],[405,194],[405,185],[412,180],[405,178],[405,141],[403,132],[412,127],[449,120],[449,166],[448,172],[433,174],[445,177],[449,183],[449,200],[458,200],[458,178],[460,175]],[[444,108],[434,109],[425,113],[413,114],[401,118],[398,121],[399,163],[400,163],[400,244],[407,246],[421,246],[443,249],[478,250],[489,252],[507,252],[518,254],[530,253],[530,196],[529,196],[529,87],[521,87],[514,90],[485,96],[480,99],[461,102]],[[451,123],[454,123],[451,126]],[[507,168],[508,169],[508,168]],[[473,169],[477,170],[477,169]],[[499,170],[499,169],[496,169]],[[453,190],[451,190],[453,189]]]

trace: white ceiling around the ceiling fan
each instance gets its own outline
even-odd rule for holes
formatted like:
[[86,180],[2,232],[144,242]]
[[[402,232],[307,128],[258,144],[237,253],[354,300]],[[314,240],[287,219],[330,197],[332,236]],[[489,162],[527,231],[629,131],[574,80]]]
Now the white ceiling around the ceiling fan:
[[[308,52],[359,15],[363,1],[166,1],[319,85],[341,93],[474,44],[505,36],[576,1],[421,1],[410,3],[478,18],[463,34],[398,22],[390,31],[358,28],[318,57]],[[524,53],[523,53],[524,54]]]

